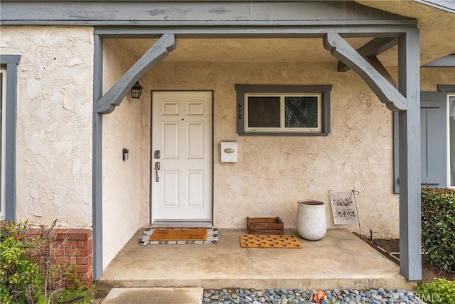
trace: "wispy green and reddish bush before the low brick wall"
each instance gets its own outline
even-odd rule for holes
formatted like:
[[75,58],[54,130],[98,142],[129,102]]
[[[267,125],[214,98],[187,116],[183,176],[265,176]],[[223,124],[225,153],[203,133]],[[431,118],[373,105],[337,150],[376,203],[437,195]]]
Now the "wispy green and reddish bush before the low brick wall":
[[70,258],[55,254],[55,223],[31,234],[26,222],[0,223],[0,303],[91,303]]

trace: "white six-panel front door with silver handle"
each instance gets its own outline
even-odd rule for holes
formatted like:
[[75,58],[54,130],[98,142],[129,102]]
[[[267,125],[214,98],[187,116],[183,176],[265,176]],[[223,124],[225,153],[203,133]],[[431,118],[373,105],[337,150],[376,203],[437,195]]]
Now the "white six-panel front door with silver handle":
[[152,93],[151,223],[212,221],[212,93]]

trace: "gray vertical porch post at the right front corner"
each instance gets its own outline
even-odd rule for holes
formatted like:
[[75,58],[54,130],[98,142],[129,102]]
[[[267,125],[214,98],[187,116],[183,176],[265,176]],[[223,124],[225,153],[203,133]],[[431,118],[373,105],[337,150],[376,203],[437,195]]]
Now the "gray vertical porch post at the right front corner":
[[398,114],[400,148],[400,273],[422,278],[420,201],[420,73],[419,33],[398,38],[398,90],[407,110]]

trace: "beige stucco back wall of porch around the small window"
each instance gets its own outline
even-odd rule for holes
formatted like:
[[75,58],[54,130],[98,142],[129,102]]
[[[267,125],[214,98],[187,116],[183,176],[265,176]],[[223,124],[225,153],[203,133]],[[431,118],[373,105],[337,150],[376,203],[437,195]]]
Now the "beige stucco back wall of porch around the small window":
[[[335,68],[322,63],[163,62],[144,77],[144,86],[154,90],[214,90],[216,227],[244,228],[246,216],[280,216],[286,227],[296,227],[299,199],[325,201],[333,226],[328,190],[356,189],[363,231],[372,229],[375,237],[398,235],[392,112],[353,71],[337,73]],[[331,134],[239,136],[235,83],[332,84]],[[220,162],[221,140],[237,140],[237,163]]]

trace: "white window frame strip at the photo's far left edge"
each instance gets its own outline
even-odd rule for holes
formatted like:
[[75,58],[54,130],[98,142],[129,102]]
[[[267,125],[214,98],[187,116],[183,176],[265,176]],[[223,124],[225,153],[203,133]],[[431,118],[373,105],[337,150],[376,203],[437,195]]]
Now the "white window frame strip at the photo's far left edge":
[[1,79],[1,184],[0,184],[0,220],[6,218],[6,68],[0,68]]

